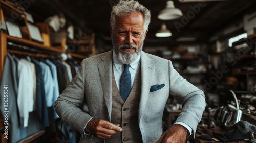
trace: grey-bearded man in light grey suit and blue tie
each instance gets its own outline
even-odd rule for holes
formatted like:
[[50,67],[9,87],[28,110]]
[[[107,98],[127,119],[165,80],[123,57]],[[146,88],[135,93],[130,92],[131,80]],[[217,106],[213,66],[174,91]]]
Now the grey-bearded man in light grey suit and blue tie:
[[[119,1],[111,13],[113,49],[84,59],[55,102],[59,117],[80,132],[80,142],[185,142],[195,133],[204,93],[183,79],[170,60],[142,51],[150,17],[137,1]],[[169,96],[183,109],[162,133]],[[89,113],[79,108],[84,100]]]

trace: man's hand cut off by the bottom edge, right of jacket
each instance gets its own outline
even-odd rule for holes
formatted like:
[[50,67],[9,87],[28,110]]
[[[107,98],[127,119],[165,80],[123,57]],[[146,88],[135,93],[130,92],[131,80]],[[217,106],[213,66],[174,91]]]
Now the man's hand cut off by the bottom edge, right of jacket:
[[169,128],[166,132],[162,134],[157,143],[163,142],[186,142],[188,131],[187,129],[179,124],[175,124],[173,127]]

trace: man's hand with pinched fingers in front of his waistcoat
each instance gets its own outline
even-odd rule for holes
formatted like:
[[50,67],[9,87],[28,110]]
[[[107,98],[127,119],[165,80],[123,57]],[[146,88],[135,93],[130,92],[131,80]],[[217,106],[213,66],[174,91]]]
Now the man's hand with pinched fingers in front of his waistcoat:
[[115,125],[109,121],[93,118],[86,126],[86,132],[93,134],[99,138],[108,139],[113,134],[121,132],[122,128],[120,125]]

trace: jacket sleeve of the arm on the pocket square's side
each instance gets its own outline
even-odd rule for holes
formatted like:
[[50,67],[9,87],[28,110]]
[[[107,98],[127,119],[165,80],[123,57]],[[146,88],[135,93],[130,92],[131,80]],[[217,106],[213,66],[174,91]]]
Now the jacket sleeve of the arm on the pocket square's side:
[[183,104],[176,122],[187,124],[195,133],[206,106],[204,92],[180,76],[171,61],[169,70],[170,95]]

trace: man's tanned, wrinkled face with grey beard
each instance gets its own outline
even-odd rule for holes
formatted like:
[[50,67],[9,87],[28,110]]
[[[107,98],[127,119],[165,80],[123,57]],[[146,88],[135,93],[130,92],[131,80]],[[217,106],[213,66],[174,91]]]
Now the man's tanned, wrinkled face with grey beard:
[[[116,17],[115,29],[110,27],[114,50],[119,59],[126,59],[125,64],[132,62],[142,50],[147,32],[143,33],[143,26],[143,15],[137,12]],[[121,59],[120,61],[122,62]]]

